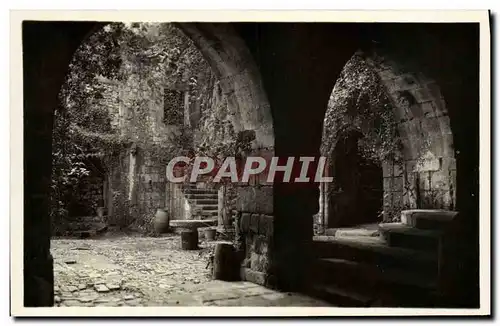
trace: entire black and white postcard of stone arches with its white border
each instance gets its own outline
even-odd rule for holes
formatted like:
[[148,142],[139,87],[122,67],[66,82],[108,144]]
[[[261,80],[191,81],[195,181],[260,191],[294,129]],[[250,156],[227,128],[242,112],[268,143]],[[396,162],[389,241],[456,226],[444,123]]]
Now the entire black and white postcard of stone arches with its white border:
[[11,12],[11,314],[490,314],[489,13],[383,13]]

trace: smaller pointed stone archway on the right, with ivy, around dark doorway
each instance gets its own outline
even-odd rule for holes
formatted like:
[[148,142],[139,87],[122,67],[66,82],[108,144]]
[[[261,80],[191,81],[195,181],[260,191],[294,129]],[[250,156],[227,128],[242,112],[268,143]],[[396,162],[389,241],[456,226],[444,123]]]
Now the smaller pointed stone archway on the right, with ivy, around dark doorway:
[[[380,157],[379,160],[383,170],[383,219],[399,220],[399,212],[405,209],[453,210],[456,202],[456,159],[448,109],[437,82],[426,77],[418,68],[417,72],[409,71],[401,67],[402,63],[391,61],[390,52],[383,57],[376,49],[370,51],[370,54],[355,54],[344,73],[356,72],[356,75],[345,78],[362,78],[363,74],[371,78],[369,82],[365,79],[361,82],[365,85],[363,87],[368,88],[366,94],[363,93],[365,90],[356,89],[356,86],[348,88],[351,86],[345,79],[338,85],[342,90],[334,88],[332,92],[325,116],[323,155],[331,157],[334,167],[342,165],[342,160],[336,157],[341,155],[337,147],[339,142],[342,143],[345,133],[339,133],[336,129],[359,130],[359,133],[368,133],[366,137],[369,138],[378,137],[377,133],[370,133],[372,129],[382,128],[378,132],[382,136],[375,143],[382,143],[377,145],[376,151],[388,154],[387,158]],[[377,87],[378,92],[370,91]],[[349,96],[354,96],[353,100],[357,102],[348,102],[347,108],[343,108],[341,92],[353,94]],[[363,96],[369,97],[368,100],[363,101]],[[369,104],[368,109],[364,109],[366,101],[376,104]],[[337,113],[338,110],[343,111]],[[332,124],[332,119],[345,122]],[[382,127],[377,127],[380,123]],[[336,128],[331,129],[332,126]],[[342,179],[341,176],[339,178]],[[339,187],[342,186],[338,184],[336,188]],[[349,199],[340,196],[336,203],[330,193],[321,193],[325,199],[320,200],[324,203],[320,209],[320,220],[325,224],[331,224],[327,221],[342,220],[335,216],[343,214],[335,207],[344,206],[349,212],[348,207],[354,209],[357,205],[354,194],[348,196]],[[356,215],[354,212],[346,214]]]

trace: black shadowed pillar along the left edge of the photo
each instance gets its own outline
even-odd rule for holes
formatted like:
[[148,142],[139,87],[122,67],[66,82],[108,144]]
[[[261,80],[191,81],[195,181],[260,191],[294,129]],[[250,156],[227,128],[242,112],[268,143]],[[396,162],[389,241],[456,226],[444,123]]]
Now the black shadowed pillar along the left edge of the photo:
[[[24,306],[54,304],[50,254],[52,128],[58,93],[81,39],[63,22],[23,22]],[[67,26],[66,26],[67,27]],[[77,31],[72,30],[73,32]],[[87,32],[87,31],[85,31]],[[21,272],[21,271],[19,271]]]

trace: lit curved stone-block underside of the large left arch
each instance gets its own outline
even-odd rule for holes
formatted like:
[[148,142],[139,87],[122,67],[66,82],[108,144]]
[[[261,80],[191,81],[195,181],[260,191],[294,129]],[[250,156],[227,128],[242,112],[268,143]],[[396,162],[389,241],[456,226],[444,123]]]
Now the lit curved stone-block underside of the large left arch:
[[236,132],[254,131],[254,148],[274,147],[271,108],[259,69],[230,24],[176,24],[194,42],[219,78]]

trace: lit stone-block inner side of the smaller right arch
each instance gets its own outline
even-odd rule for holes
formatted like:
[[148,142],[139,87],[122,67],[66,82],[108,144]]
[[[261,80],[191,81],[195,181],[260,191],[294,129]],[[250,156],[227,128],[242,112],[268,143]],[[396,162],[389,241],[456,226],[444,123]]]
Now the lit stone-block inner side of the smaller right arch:
[[405,208],[453,210],[455,152],[446,102],[437,82],[379,56],[371,63],[394,103],[403,142],[403,163],[384,167],[384,185],[392,189],[392,205],[402,202]]

